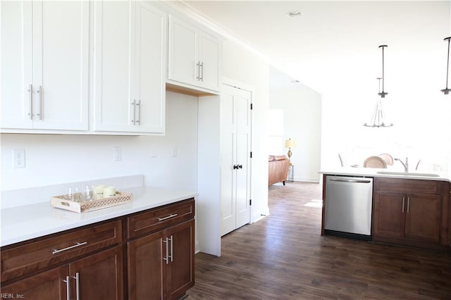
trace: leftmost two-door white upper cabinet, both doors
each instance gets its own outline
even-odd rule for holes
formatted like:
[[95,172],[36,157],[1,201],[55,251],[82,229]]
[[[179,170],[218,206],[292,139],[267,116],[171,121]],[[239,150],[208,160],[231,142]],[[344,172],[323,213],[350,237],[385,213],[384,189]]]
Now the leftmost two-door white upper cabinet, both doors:
[[1,128],[87,130],[89,2],[0,6]]

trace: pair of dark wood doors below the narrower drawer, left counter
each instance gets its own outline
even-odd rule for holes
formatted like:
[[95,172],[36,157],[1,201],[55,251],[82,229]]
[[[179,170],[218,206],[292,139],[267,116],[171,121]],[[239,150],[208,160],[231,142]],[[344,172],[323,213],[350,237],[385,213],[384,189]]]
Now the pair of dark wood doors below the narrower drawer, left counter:
[[192,251],[194,220],[128,242],[128,299],[183,296],[194,285]]

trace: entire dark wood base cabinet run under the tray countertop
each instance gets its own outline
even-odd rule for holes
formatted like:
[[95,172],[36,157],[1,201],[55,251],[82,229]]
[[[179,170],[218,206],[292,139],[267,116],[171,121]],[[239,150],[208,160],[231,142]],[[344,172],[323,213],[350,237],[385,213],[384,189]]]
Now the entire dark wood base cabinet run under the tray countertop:
[[193,285],[194,199],[1,248],[0,299],[178,299]]

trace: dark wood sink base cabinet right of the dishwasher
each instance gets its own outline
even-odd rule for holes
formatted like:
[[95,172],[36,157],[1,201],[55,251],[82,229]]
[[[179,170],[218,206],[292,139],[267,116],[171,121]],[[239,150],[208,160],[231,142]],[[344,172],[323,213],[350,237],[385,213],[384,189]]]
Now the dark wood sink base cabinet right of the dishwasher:
[[447,182],[375,178],[373,240],[444,249],[448,242]]

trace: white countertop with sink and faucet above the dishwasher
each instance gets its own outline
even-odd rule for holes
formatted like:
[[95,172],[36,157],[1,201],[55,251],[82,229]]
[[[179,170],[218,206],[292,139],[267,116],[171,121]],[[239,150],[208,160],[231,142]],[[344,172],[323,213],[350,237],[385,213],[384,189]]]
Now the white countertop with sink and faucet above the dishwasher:
[[[400,174],[379,174],[378,172],[394,172]],[[402,173],[399,170],[378,169],[378,168],[354,168],[354,167],[338,167],[320,170],[320,174],[326,175],[343,175],[343,176],[362,176],[362,177],[389,177],[389,178],[403,178],[416,180],[440,180],[451,182],[451,175],[443,172],[423,172],[412,171],[411,173]],[[415,174],[416,173],[416,174]],[[425,176],[424,173],[437,174],[437,176]]]

